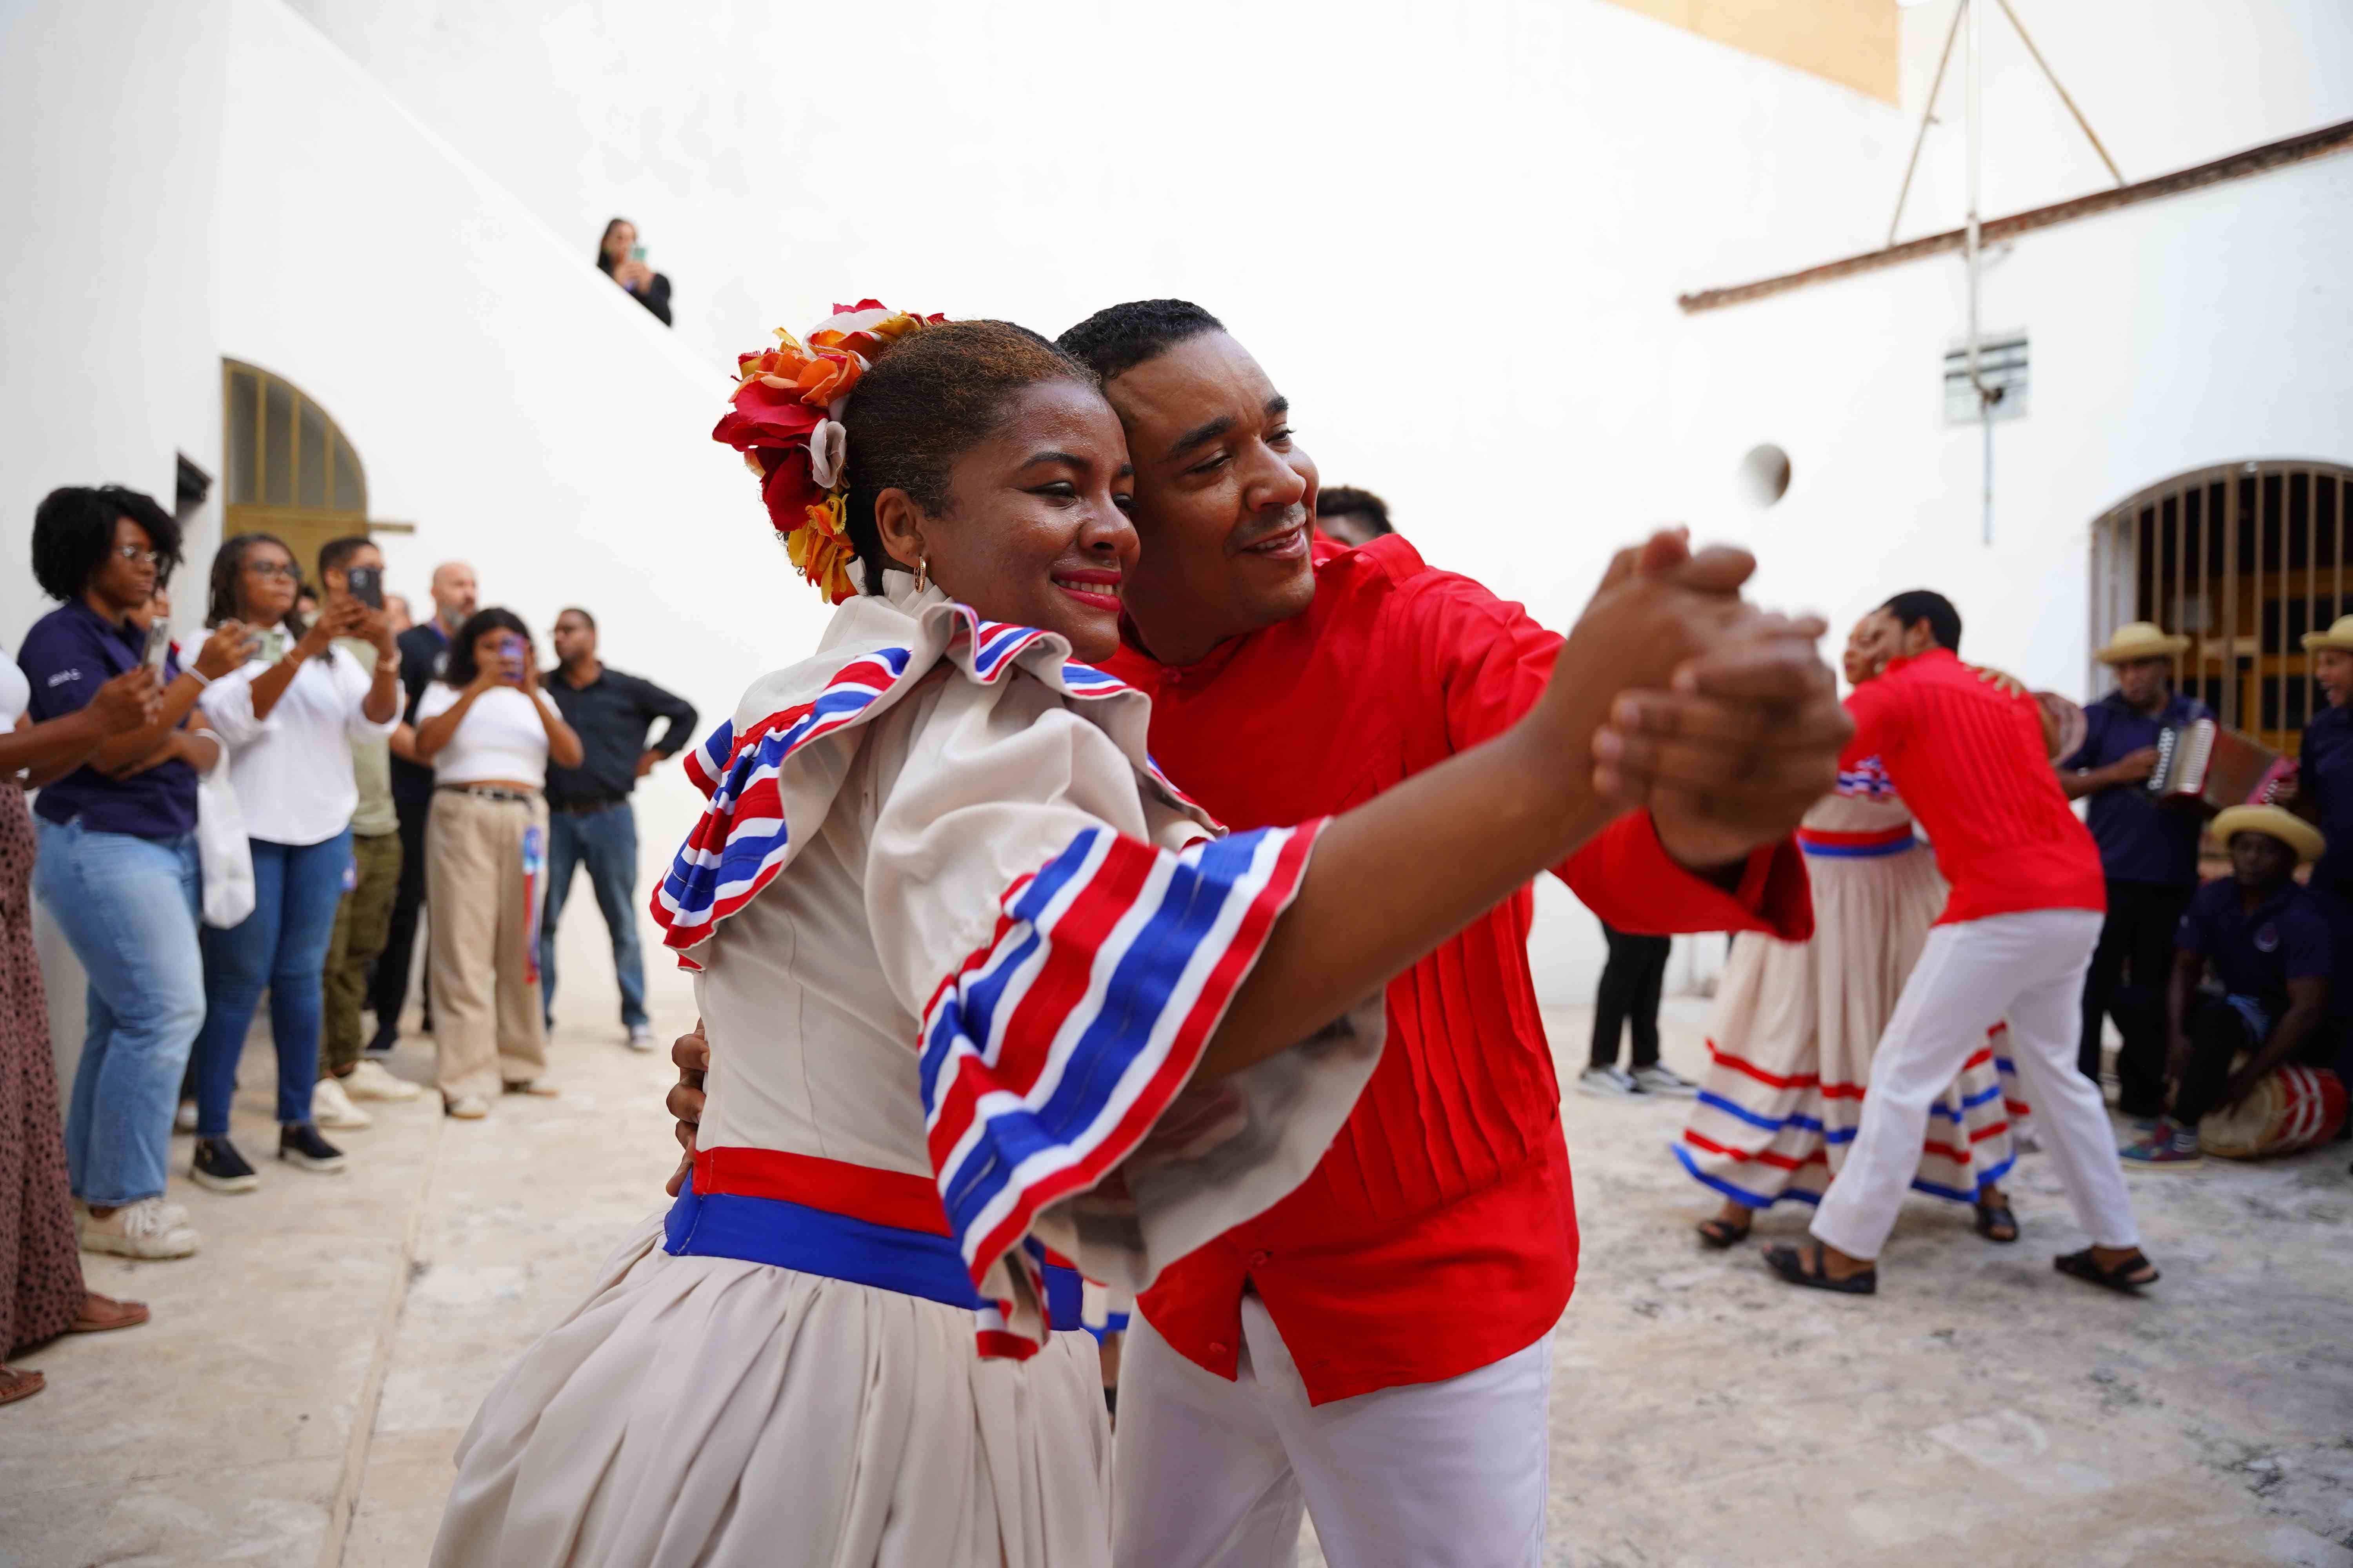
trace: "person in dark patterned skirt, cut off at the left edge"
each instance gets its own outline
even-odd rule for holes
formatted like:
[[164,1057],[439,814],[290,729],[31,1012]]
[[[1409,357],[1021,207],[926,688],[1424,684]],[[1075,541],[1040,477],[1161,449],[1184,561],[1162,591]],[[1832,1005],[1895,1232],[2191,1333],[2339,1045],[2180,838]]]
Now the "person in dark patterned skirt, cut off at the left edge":
[[[33,813],[24,790],[78,769],[101,741],[146,724],[155,677],[136,665],[99,686],[87,708],[47,724],[26,722],[26,698],[24,670],[0,654],[0,1354],[148,1316],[139,1302],[82,1288],[49,1006],[33,950]],[[0,1406],[38,1394],[45,1382],[40,1373],[0,1366]]]

